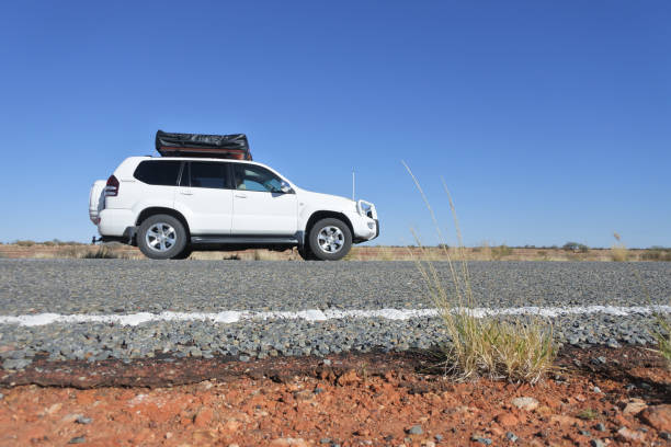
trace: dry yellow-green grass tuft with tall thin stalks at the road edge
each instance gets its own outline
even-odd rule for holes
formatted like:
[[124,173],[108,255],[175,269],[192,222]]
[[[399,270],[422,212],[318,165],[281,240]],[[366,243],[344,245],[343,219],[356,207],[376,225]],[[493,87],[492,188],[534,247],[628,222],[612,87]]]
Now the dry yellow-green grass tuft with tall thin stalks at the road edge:
[[[448,339],[441,346],[441,366],[446,374],[459,380],[477,377],[530,383],[542,380],[553,369],[557,355],[551,322],[534,316],[512,317],[507,320],[479,318],[476,313],[477,306],[464,254],[462,232],[450,191],[443,181],[458,242],[454,261],[429,199],[410,168],[405,162],[403,165],[431,215],[452,278],[452,284],[445,283],[432,261],[421,255],[414,257],[430,298],[439,309]],[[414,232],[413,236],[421,249],[421,241]]]

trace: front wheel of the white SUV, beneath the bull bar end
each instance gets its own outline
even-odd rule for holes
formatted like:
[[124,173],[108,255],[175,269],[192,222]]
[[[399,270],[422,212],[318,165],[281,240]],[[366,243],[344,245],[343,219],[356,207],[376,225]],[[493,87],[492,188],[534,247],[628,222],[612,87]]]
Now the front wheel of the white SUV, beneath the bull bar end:
[[350,227],[340,219],[321,219],[312,226],[308,236],[309,248],[320,261],[343,259],[352,248]]

